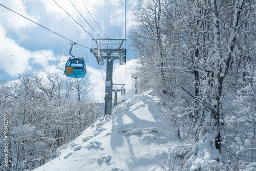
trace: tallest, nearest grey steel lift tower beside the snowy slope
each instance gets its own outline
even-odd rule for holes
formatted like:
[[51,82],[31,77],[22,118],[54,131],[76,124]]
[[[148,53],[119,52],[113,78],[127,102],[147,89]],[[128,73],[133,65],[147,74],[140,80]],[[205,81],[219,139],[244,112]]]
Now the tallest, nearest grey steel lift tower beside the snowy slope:
[[[105,115],[112,114],[112,92],[113,92],[113,61],[119,59],[120,65],[126,63],[126,49],[122,48],[123,41],[126,39],[93,39],[96,42],[97,48],[91,48],[91,53],[97,59],[97,62],[100,65],[104,65],[104,60],[106,59],[106,81],[105,81]],[[100,44],[100,40],[103,40],[103,43]],[[113,45],[112,41],[119,41],[120,44]]]

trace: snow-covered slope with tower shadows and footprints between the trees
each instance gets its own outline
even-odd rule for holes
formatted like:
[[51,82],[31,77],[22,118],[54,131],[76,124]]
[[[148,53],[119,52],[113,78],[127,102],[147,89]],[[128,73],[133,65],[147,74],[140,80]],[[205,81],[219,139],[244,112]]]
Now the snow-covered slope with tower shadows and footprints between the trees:
[[162,170],[179,139],[158,104],[150,93],[127,100],[35,170]]

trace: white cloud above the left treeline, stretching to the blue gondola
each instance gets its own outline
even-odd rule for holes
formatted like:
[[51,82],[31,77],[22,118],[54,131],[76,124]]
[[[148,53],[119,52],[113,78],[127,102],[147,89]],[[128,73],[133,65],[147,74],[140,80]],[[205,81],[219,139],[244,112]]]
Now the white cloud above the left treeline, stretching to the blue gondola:
[[[51,65],[50,62],[68,57],[56,57],[51,50],[31,52],[20,47],[13,39],[6,36],[5,29],[0,25],[0,68],[10,76],[17,76],[26,71],[36,70],[44,72],[61,72],[59,65]],[[62,67],[65,66],[61,65]]]

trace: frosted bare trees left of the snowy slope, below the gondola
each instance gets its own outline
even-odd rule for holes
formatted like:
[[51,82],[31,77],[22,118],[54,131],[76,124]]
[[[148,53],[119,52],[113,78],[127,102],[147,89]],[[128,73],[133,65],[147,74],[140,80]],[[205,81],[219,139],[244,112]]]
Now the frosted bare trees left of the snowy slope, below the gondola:
[[[60,75],[24,73],[0,83],[1,125],[8,116],[8,123],[0,128],[2,170],[32,170],[46,163],[58,155],[59,146],[96,120],[99,109],[89,95],[88,80]],[[4,166],[5,154],[8,167]]]

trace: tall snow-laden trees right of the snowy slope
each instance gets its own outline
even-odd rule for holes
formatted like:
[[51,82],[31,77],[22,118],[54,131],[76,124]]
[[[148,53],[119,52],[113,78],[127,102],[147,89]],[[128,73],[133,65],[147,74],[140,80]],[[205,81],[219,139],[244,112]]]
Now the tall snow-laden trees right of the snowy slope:
[[141,0],[134,10],[138,91],[162,98],[183,139],[164,170],[256,169],[255,6]]

